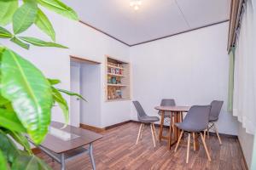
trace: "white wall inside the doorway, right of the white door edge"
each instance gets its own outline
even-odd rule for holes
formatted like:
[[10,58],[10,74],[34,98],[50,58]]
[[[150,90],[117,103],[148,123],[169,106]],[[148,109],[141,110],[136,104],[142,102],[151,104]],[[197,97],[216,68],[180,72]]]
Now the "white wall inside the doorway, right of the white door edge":
[[80,123],[101,127],[101,65],[80,65],[80,92],[87,102],[80,100]]

